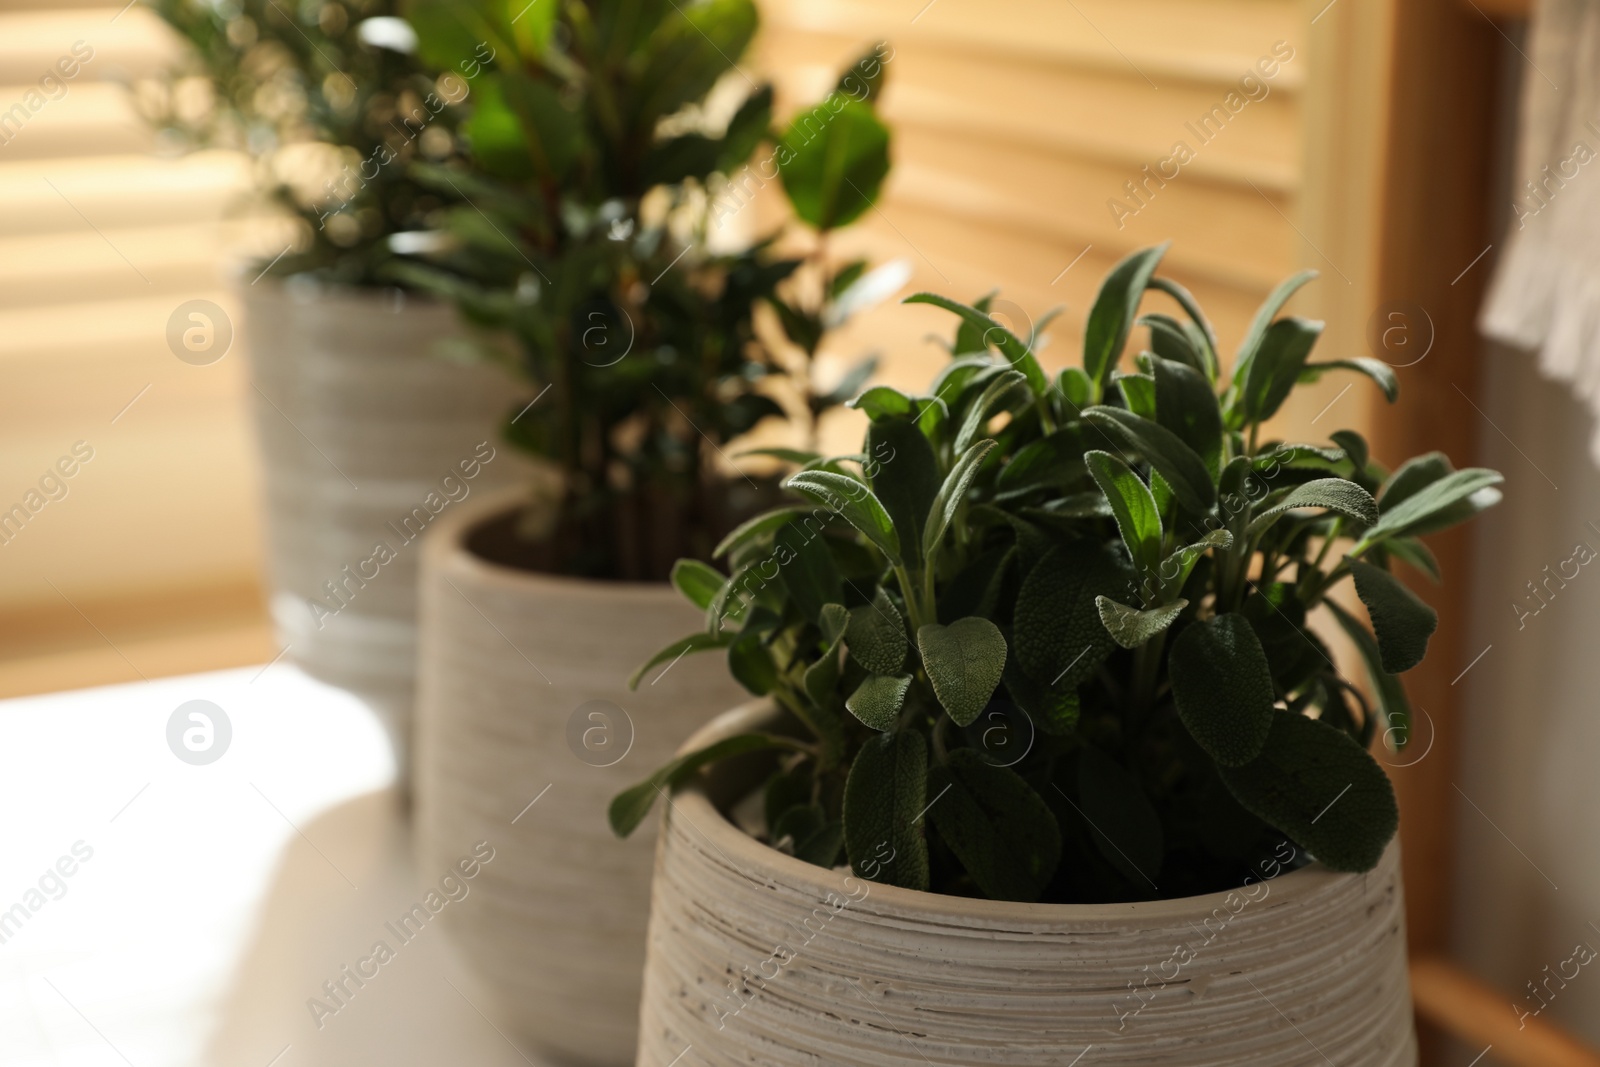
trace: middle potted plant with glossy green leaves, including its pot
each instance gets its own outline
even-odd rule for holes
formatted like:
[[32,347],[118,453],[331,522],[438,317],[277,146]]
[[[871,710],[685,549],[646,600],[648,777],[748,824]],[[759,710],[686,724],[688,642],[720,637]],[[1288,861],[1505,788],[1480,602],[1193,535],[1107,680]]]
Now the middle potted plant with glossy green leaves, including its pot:
[[[462,203],[392,269],[517,338],[533,398],[507,434],[539,469],[531,491],[445,517],[424,550],[419,849],[512,840],[450,926],[501,1025],[563,1061],[630,1062],[650,861],[602,816],[630,766],[734,691],[696,664],[638,697],[622,678],[690,621],[669,579],[698,573],[674,560],[709,557],[776,496],[731,442],[763,419],[810,429],[870,373],[821,390],[811,355],[904,280],[835,266],[822,242],[888,171],[883,59],[851,67],[806,133],[774,133],[771,90],[736,72],[749,0],[418,2],[408,18],[427,61],[485,70],[470,168],[413,166]],[[771,181],[810,222],[805,256],[730,237]]]

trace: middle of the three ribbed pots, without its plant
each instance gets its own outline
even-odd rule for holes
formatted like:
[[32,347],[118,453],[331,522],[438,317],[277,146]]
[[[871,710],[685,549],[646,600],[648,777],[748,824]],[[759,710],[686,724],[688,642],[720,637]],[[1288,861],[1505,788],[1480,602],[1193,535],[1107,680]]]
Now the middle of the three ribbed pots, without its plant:
[[[627,677],[704,625],[667,584],[490,563],[467,547],[514,494],[446,515],[422,549],[416,833],[424,870],[496,849],[442,917],[485,1006],[562,1064],[634,1062],[653,833],[619,841],[611,797],[672,758],[739,689],[720,656]],[[643,838],[643,840],[640,840]]]

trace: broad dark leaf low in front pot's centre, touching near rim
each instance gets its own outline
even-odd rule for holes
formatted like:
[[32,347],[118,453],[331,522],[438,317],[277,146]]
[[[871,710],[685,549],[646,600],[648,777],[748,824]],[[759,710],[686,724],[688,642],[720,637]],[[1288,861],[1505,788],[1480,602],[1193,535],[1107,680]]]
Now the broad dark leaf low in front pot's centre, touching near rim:
[[1061,862],[1061,827],[1050,805],[1010,768],[957,749],[928,773],[928,808],[939,837],[992,901],[1034,902]]

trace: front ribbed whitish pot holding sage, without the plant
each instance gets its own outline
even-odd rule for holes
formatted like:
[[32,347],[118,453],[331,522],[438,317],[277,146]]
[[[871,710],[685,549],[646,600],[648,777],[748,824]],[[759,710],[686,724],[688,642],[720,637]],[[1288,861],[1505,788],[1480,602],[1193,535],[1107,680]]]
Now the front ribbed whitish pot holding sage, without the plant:
[[[750,704],[685,747],[771,721]],[[758,781],[736,776],[664,817],[640,1067],[1418,1062],[1395,845],[1176,901],[974,901],[758,843],[718,806]]]

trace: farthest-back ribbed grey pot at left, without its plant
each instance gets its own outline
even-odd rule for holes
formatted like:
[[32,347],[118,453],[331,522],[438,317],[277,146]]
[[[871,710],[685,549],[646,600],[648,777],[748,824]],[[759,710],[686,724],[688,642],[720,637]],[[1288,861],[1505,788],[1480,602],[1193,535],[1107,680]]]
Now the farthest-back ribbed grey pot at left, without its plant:
[[406,763],[419,533],[526,477],[499,440],[525,392],[442,358],[448,304],[294,278],[240,285],[267,502],[272,619],[286,656],[382,715]]

